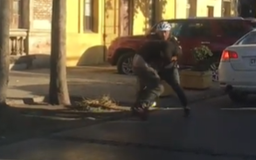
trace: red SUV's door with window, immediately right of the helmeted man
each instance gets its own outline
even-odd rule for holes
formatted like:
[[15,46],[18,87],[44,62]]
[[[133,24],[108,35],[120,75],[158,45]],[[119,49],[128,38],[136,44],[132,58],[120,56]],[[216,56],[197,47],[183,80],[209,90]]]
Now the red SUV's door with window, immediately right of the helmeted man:
[[183,23],[176,37],[183,48],[183,56],[179,63],[192,65],[195,63],[192,49],[201,45],[206,45],[211,49],[211,23],[206,20],[188,20]]

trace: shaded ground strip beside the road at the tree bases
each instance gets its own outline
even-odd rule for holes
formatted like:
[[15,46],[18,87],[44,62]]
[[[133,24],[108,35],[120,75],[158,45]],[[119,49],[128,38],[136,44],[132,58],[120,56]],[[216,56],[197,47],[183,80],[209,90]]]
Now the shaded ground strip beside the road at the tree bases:
[[126,115],[128,112],[116,110],[92,112],[51,105],[9,106],[0,110],[0,145],[105,120],[114,120]]

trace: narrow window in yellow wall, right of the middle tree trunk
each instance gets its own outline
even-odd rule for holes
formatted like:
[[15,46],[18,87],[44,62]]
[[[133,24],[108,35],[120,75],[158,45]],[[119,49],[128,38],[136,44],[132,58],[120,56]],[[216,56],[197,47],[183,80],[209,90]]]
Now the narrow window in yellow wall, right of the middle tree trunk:
[[84,31],[94,31],[93,2],[93,0],[84,0]]

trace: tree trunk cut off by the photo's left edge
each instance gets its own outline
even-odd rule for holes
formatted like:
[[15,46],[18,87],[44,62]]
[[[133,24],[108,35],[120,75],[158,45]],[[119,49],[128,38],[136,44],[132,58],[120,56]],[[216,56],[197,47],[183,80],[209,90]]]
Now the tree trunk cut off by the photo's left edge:
[[0,3],[0,107],[5,106],[7,87],[9,82],[9,29],[10,29],[10,0]]

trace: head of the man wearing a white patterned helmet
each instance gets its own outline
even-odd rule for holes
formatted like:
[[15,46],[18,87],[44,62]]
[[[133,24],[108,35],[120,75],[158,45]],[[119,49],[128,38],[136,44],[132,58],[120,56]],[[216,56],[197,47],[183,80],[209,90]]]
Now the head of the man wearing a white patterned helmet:
[[156,26],[156,34],[163,40],[167,40],[170,37],[171,26],[170,23],[162,22]]

